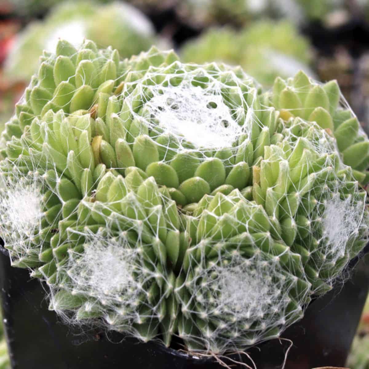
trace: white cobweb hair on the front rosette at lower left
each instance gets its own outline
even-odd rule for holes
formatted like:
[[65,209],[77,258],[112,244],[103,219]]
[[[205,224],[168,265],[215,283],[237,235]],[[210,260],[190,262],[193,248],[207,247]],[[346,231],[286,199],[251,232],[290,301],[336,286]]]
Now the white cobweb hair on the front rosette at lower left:
[[[114,237],[101,227],[97,234],[87,231],[83,248],[69,249],[68,254],[68,263],[60,269],[66,274],[60,287],[74,296],[89,297],[81,311],[102,314],[107,324],[132,331],[133,323],[140,320],[139,300],[147,293],[144,284],[154,275],[141,264],[142,249],[132,248],[124,232]],[[77,323],[80,317],[70,320],[60,299],[54,299],[57,291],[51,288],[52,309],[70,323]],[[105,315],[107,308],[110,313]]]

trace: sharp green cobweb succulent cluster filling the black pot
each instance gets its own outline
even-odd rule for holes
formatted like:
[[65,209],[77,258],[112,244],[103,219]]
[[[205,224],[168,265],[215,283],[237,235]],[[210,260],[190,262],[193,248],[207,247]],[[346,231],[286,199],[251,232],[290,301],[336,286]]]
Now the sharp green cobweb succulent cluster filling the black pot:
[[67,320],[244,350],[301,318],[365,245],[365,192],[283,91],[156,48],[121,60],[59,41],[41,61],[3,133],[0,234]]

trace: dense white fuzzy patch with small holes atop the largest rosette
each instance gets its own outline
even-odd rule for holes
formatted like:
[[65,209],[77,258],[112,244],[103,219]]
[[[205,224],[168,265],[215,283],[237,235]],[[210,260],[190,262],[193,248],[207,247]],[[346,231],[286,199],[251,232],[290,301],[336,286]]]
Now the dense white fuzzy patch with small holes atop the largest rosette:
[[231,147],[242,127],[231,116],[219,94],[209,94],[199,86],[160,87],[146,104],[166,133],[183,137],[197,148]]

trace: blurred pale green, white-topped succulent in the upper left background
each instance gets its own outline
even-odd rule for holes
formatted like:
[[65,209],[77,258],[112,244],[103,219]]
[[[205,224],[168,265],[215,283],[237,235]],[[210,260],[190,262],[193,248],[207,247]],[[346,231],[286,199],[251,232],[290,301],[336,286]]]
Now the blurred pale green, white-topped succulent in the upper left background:
[[29,81],[37,72],[39,55],[43,50],[55,52],[59,38],[75,47],[85,38],[101,47],[113,43],[123,57],[158,42],[151,21],[130,4],[66,1],[54,7],[44,21],[34,21],[21,32],[5,61],[4,74],[10,79]]

